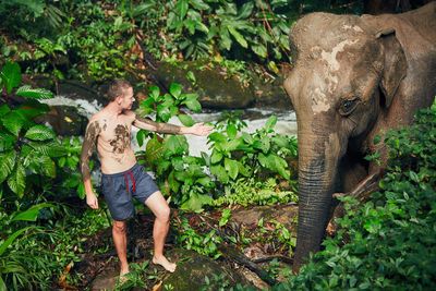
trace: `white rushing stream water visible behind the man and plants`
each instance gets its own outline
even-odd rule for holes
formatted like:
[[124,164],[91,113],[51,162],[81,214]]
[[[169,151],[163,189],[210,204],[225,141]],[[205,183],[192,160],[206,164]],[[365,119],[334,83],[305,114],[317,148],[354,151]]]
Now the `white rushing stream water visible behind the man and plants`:
[[[63,106],[73,106],[76,107],[78,112],[83,116],[89,118],[97,111],[101,109],[101,106],[94,100],[89,102],[85,99],[71,99],[64,96],[57,96],[52,99],[44,100],[44,102],[55,106],[55,105],[63,105]],[[192,117],[196,122],[215,122],[219,119],[222,111],[211,111],[204,110],[202,113],[193,113]],[[277,117],[276,132],[287,135],[296,135],[296,118],[295,112],[289,110],[272,110],[272,109],[259,109],[259,108],[250,108],[242,111],[242,120],[246,122],[247,128],[243,131],[245,132],[254,132],[255,130],[262,128],[267,119],[275,114]],[[169,121],[172,124],[181,125],[178,118],[171,118]],[[132,130],[133,136],[137,132],[137,129],[133,128]],[[206,142],[206,136],[193,136],[186,135],[187,142],[190,144],[190,154],[192,156],[201,156],[202,151],[210,153]],[[136,140],[133,138],[132,145],[134,149],[138,149],[136,144]]]

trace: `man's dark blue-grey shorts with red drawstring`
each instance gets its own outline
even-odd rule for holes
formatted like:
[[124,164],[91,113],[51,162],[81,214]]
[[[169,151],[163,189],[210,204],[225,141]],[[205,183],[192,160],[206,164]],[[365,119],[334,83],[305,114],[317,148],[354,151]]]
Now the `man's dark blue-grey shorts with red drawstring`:
[[132,197],[141,203],[159,191],[155,181],[136,163],[130,170],[120,173],[102,174],[101,191],[114,220],[125,220],[134,216],[135,207]]

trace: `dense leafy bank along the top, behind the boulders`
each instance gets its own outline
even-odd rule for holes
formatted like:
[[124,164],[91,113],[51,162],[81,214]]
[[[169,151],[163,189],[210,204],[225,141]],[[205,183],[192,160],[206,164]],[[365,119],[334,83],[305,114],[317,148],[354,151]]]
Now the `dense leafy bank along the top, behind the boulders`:
[[[2,1],[0,51],[28,73],[101,80],[159,60],[289,61],[288,32],[312,11],[359,12],[361,3],[319,0]],[[3,29],[2,29],[3,31]]]

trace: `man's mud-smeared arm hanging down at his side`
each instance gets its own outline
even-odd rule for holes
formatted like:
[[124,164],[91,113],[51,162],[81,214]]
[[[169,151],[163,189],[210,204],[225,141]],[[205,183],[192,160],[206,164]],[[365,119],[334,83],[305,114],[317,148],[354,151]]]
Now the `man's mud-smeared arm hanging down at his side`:
[[93,185],[90,183],[89,158],[95,149],[99,132],[100,126],[98,124],[98,121],[89,122],[86,128],[85,140],[83,141],[81,154],[81,172],[86,192],[86,203],[93,209],[98,208],[98,201],[96,195],[94,194]]

